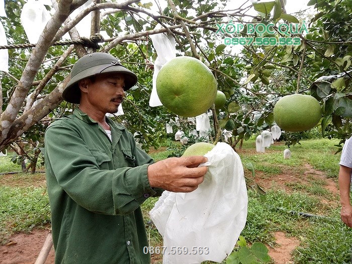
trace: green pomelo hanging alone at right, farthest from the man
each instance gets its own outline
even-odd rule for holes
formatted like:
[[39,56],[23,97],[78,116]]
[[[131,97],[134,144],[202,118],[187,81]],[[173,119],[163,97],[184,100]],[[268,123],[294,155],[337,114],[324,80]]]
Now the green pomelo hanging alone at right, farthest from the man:
[[321,107],[319,102],[308,95],[284,96],[274,107],[274,120],[285,131],[309,130],[319,123],[320,118]]

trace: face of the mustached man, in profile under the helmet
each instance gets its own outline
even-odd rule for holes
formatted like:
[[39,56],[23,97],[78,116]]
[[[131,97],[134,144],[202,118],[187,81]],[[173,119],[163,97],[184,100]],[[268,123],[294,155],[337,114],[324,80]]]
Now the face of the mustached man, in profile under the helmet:
[[120,73],[103,73],[94,79],[84,79],[79,82],[81,102],[93,111],[104,114],[116,113],[122,103],[125,92],[125,77]]

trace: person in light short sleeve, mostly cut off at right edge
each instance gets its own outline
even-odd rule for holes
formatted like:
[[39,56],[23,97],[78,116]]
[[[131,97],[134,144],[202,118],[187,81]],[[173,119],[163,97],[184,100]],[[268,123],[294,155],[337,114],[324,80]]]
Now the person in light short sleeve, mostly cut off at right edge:
[[341,219],[347,226],[352,227],[352,206],[349,201],[349,188],[352,177],[352,139],[348,138],[342,148],[338,186],[340,190]]

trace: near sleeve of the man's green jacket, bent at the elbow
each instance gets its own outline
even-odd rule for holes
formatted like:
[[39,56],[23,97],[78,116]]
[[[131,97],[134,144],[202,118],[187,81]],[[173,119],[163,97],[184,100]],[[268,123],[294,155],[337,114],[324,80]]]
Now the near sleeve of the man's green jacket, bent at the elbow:
[[60,124],[52,125],[45,133],[49,196],[66,193],[89,211],[129,214],[147,197],[157,194],[147,177],[148,165],[153,161],[145,155],[137,153],[139,163],[136,167],[100,169],[79,131]]

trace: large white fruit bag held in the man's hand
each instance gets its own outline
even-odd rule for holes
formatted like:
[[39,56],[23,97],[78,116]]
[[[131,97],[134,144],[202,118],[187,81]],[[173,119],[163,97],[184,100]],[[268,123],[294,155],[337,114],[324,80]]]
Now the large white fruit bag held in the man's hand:
[[247,218],[247,189],[238,154],[219,142],[205,156],[205,180],[191,193],[164,191],[149,212],[163,237],[163,263],[223,261]]

